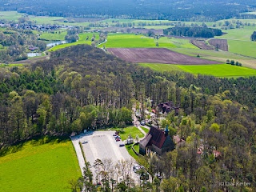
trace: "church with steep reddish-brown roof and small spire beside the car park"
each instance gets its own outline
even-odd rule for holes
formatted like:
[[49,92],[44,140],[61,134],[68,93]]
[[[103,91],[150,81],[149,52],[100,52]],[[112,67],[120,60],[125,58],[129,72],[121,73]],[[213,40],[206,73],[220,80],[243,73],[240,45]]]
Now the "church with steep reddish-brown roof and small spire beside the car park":
[[147,150],[162,154],[170,150],[174,150],[174,141],[170,138],[168,126],[166,130],[159,130],[151,127],[146,137],[139,142],[139,153],[146,154]]

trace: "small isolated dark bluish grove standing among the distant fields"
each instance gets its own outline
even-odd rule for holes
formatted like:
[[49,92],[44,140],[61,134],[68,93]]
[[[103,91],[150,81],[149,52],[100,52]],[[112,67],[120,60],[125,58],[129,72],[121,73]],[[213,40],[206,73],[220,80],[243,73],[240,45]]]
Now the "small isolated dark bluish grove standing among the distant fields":
[[206,26],[175,26],[163,30],[163,34],[193,38],[214,38],[214,36],[221,36],[222,30],[212,29]]

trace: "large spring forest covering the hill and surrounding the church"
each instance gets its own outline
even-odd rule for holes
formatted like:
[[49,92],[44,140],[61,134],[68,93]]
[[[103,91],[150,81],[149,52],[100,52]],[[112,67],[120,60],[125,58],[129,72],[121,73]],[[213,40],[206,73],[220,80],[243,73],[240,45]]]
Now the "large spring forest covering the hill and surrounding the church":
[[[178,134],[186,142],[162,157],[140,158],[152,176],[152,181],[142,182],[141,189],[129,177],[113,182],[109,166],[104,175],[98,175],[104,183],[102,190],[111,191],[110,182],[122,191],[161,188],[166,192],[218,191],[227,187],[219,182],[250,182],[248,189],[254,191],[255,85],[255,77],[162,74],[93,46],[71,46],[54,51],[49,60],[0,70],[0,148],[4,153],[6,146],[34,136],[126,126],[132,122],[135,102],[154,108],[159,102],[172,101],[182,110],[178,116],[168,114],[160,124],[168,125],[171,136]],[[204,153],[198,154],[198,148]],[[95,163],[99,170],[106,167],[104,161]],[[84,182],[86,190],[94,191],[89,168]],[[159,174],[162,180],[156,177]],[[246,187],[228,188],[250,191]]]

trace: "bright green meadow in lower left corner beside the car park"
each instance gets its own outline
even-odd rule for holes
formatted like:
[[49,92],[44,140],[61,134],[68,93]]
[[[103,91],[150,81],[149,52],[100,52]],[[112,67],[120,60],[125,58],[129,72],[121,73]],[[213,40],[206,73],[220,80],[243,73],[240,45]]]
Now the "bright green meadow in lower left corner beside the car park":
[[69,181],[82,176],[72,142],[34,146],[26,142],[0,158],[0,191],[70,191]]

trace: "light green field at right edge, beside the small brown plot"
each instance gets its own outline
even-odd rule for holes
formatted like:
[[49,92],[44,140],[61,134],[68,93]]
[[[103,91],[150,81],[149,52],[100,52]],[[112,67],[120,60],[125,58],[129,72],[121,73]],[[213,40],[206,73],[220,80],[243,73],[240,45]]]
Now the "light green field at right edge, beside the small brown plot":
[[229,51],[256,58],[256,42],[228,40]]

